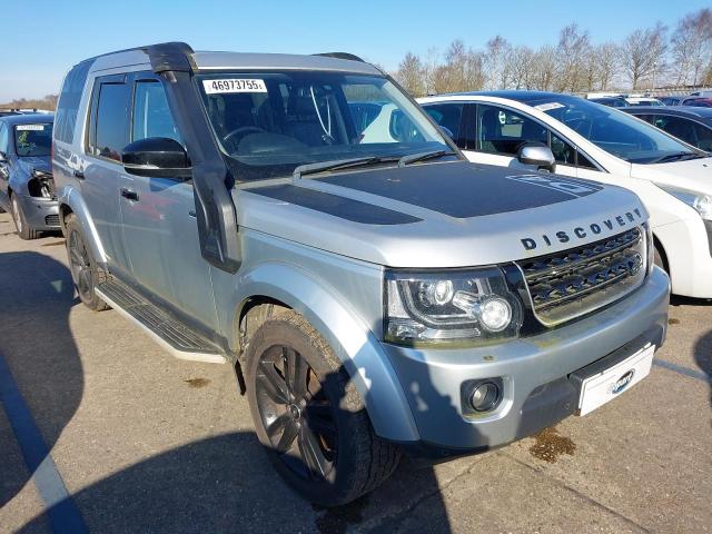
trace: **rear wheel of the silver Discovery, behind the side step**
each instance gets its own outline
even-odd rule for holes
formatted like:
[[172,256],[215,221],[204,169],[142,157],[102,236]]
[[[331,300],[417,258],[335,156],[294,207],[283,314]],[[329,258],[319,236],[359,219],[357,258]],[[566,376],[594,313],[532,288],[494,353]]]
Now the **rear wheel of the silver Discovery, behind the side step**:
[[108,309],[109,305],[101,300],[95,291],[95,288],[105,280],[106,275],[97,267],[75,214],[69,214],[65,220],[65,227],[67,228],[66,244],[69,270],[79,298],[95,312]]

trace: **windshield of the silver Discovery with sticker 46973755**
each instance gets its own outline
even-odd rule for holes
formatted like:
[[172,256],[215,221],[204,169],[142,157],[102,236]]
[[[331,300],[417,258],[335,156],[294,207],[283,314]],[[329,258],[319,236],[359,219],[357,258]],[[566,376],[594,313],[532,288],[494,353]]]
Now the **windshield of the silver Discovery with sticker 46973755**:
[[454,154],[425,113],[383,77],[219,73],[200,76],[198,83],[238,181],[290,176],[325,161]]

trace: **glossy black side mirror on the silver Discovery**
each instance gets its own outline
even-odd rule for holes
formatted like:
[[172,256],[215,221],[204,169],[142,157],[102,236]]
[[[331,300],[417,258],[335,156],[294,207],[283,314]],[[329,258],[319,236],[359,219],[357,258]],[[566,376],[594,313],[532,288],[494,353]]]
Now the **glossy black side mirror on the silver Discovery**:
[[121,162],[128,174],[148,178],[187,179],[192,175],[186,149],[167,137],[147,137],[127,145]]

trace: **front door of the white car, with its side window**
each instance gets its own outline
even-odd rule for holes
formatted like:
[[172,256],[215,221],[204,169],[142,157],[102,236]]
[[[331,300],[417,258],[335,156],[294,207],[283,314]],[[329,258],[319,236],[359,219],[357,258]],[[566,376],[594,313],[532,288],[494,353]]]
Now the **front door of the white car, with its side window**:
[[466,110],[465,119],[473,131],[465,156],[471,161],[497,165],[521,170],[536,170],[533,165],[517,160],[517,151],[524,142],[541,142],[548,146],[556,160],[556,172],[577,176],[576,148],[538,120],[520,110],[494,103],[477,103]]

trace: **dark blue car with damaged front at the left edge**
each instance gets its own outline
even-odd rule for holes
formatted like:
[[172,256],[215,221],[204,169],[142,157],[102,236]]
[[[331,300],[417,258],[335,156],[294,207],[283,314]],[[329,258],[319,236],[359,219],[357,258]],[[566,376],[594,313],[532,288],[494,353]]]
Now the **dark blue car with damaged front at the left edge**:
[[0,208],[10,211],[22,239],[60,229],[50,161],[53,121],[50,113],[0,117]]

